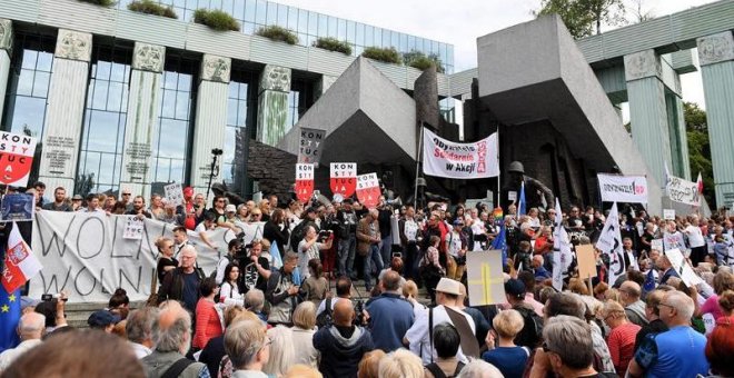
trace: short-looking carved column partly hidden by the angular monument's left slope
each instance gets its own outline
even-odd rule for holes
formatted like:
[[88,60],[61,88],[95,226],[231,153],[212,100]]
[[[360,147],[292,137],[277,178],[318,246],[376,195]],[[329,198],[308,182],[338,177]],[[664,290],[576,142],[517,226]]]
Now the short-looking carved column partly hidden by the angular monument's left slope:
[[257,140],[276,146],[286,136],[288,122],[288,93],[290,69],[265,66],[258,91]]

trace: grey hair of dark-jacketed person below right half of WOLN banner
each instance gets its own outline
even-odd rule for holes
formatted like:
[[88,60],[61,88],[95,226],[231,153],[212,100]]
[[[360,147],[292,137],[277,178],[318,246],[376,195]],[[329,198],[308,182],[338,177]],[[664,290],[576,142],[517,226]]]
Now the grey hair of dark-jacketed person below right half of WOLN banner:
[[[175,320],[161,328],[161,319],[175,317]],[[166,321],[168,322],[168,321]],[[188,348],[191,334],[191,316],[180,306],[166,306],[152,325],[152,339],[158,351],[181,351]]]

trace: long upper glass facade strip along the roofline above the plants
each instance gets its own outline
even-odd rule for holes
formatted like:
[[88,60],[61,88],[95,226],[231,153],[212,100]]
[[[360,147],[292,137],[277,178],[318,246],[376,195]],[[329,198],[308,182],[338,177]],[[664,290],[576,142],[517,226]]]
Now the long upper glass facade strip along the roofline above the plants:
[[[118,8],[126,9],[132,0],[118,1]],[[334,37],[351,44],[354,56],[368,47],[394,47],[401,53],[418,50],[426,56],[436,54],[444,63],[447,73],[454,73],[454,46],[389,29],[383,29],[345,20],[337,17],[311,12],[265,0],[158,0],[171,6],[180,20],[190,21],[199,8],[220,9],[232,14],[240,22],[245,33],[252,34],[261,27],[277,24],[298,34],[299,43],[311,46],[319,37]]]

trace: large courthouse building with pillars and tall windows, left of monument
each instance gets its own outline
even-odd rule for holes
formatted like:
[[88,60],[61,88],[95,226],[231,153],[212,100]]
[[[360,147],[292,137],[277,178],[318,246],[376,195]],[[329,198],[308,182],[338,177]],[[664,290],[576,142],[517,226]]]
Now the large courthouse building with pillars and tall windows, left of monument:
[[[149,196],[151,185],[172,181],[206,191],[211,150],[221,149],[214,181],[239,191],[247,141],[275,146],[365,48],[416,50],[454,70],[452,44],[271,1],[160,0],[178,19],[132,12],[129,2],[0,2],[1,125],[38,138],[31,180],[76,193]],[[191,22],[199,8],[230,13],[241,31]],[[299,43],[255,36],[271,24]],[[353,56],[311,47],[319,37],[348,41]],[[420,74],[376,66],[406,90]]]

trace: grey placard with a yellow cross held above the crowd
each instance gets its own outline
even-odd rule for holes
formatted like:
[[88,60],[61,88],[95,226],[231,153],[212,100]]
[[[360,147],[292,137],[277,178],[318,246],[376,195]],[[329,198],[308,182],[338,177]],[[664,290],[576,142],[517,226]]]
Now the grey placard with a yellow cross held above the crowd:
[[466,253],[466,277],[469,306],[504,304],[505,277],[502,272],[502,250]]

